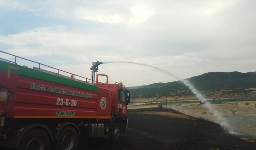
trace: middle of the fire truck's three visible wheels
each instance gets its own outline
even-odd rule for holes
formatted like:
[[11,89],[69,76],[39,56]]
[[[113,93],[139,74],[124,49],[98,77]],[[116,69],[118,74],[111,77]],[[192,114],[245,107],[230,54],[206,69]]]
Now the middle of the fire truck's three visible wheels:
[[76,150],[78,144],[78,133],[72,126],[67,126],[61,130],[58,136],[57,150]]

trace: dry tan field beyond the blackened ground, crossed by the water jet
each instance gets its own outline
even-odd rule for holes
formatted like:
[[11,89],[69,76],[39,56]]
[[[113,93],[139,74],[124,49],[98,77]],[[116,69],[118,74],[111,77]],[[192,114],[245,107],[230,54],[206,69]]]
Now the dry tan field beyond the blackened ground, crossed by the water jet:
[[[246,106],[245,104],[250,105]],[[256,108],[255,101],[227,102],[214,104],[212,108],[217,110],[228,122],[228,126],[234,130],[253,134],[256,136]],[[165,105],[163,105],[165,107]],[[204,118],[212,122],[220,123],[214,118],[212,112],[205,105],[199,103],[182,103],[181,105],[168,105],[168,108],[179,110],[184,114],[196,118]]]

